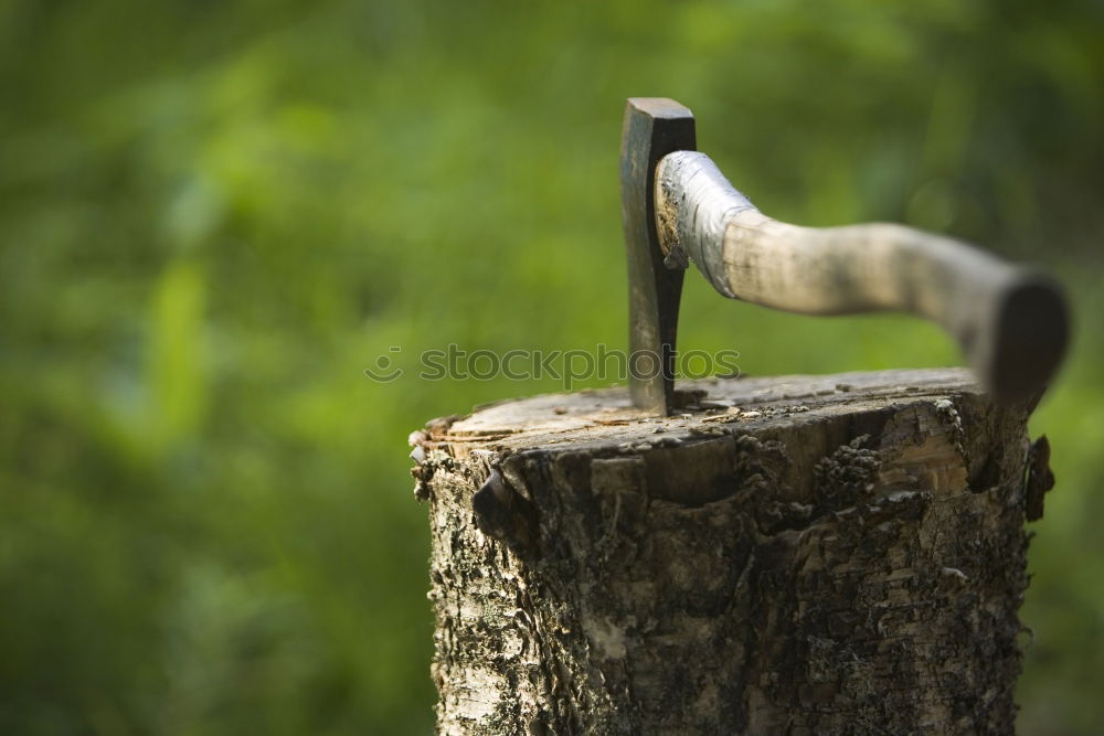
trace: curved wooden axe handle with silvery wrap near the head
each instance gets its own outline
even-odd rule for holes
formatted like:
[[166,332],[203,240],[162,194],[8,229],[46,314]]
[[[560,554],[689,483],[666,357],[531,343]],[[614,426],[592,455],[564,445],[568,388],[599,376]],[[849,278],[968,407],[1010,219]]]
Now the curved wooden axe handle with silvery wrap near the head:
[[1065,351],[1061,288],[965,243],[888,223],[815,228],[772,220],[696,151],[660,160],[655,204],[668,266],[689,258],[722,295],[774,309],[933,320],[998,398],[1039,392]]

